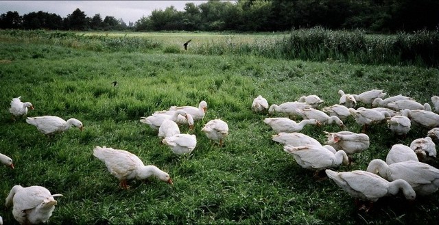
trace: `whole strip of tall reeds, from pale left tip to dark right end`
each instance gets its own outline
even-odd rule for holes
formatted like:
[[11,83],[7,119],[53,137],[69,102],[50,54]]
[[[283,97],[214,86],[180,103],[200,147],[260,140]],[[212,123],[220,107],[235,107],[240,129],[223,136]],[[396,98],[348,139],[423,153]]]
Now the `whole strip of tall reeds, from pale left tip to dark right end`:
[[333,31],[322,27],[296,29],[283,36],[264,36],[243,42],[234,36],[200,44],[203,55],[258,55],[274,59],[349,62],[401,66],[438,66],[439,31],[416,31],[396,36],[365,31]]

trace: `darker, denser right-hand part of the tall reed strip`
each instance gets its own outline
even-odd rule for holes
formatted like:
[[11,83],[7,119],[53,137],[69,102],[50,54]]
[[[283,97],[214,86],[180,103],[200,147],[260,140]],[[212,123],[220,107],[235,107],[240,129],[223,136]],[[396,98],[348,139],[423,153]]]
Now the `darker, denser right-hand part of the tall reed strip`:
[[278,42],[285,59],[339,60],[364,64],[439,65],[439,32],[368,36],[364,31],[322,27],[294,30]]

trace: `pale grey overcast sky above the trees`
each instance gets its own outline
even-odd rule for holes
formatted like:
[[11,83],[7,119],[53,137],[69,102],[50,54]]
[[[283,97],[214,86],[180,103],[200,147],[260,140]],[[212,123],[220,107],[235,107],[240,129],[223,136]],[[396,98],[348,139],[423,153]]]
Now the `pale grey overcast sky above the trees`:
[[178,11],[184,11],[188,2],[200,5],[207,1],[0,1],[0,14],[16,11],[23,16],[29,12],[43,11],[65,18],[79,8],[88,17],[95,14],[101,14],[102,19],[105,16],[114,16],[117,19],[122,18],[128,25],[142,16],[150,16],[153,10],[165,10],[171,5]]

